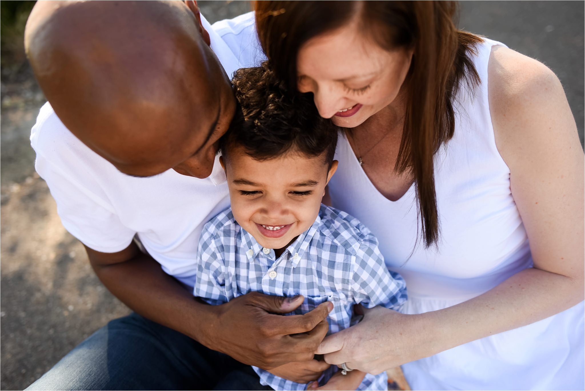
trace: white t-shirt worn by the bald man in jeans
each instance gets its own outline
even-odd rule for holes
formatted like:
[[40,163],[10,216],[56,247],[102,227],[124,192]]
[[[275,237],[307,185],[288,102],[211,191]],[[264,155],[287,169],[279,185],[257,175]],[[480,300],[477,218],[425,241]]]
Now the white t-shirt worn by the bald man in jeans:
[[[228,76],[264,60],[253,12],[214,26],[201,17]],[[163,270],[193,286],[203,225],[229,206],[225,174],[216,157],[207,179],[170,169],[137,178],[119,172],[63,125],[47,102],[30,133],[35,168],[47,181],[64,227],[89,248],[122,251],[135,234]]]

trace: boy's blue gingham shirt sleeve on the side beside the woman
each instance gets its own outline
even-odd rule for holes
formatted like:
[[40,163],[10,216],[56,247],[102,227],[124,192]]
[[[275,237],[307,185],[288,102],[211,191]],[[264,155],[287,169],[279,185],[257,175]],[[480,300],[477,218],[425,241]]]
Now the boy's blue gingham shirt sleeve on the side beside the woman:
[[398,273],[388,271],[378,240],[368,234],[356,253],[353,297],[366,308],[383,306],[397,310],[407,299],[406,284]]

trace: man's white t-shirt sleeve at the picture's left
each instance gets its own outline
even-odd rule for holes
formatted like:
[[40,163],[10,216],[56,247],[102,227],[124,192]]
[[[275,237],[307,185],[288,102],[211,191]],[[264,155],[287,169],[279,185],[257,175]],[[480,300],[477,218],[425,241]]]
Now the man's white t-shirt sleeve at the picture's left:
[[68,131],[49,103],[40,109],[30,145],[36,152],[35,169],[49,186],[67,231],[95,251],[128,247],[136,232],[122,224],[112,205],[95,191],[101,188],[95,180],[101,168],[95,167],[97,155]]

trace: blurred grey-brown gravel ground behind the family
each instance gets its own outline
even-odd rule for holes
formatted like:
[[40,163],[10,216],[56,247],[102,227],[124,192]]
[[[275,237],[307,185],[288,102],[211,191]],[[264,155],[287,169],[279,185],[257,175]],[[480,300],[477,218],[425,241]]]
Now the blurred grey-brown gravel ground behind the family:
[[[243,1],[201,1],[210,22],[247,12]],[[559,76],[583,143],[584,3],[463,2],[459,25],[534,57]],[[84,338],[129,310],[91,270],[34,170],[30,128],[42,92],[29,71],[1,85],[0,389],[23,389]]]

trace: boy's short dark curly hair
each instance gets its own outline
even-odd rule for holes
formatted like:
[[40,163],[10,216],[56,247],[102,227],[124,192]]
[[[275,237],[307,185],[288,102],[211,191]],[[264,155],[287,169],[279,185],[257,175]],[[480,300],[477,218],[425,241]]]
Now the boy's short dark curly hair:
[[232,84],[238,107],[219,142],[224,159],[232,146],[242,146],[256,160],[274,159],[292,149],[307,157],[326,152],[325,163],[331,168],[338,128],[319,115],[312,94],[288,92],[268,61],[240,68]]

